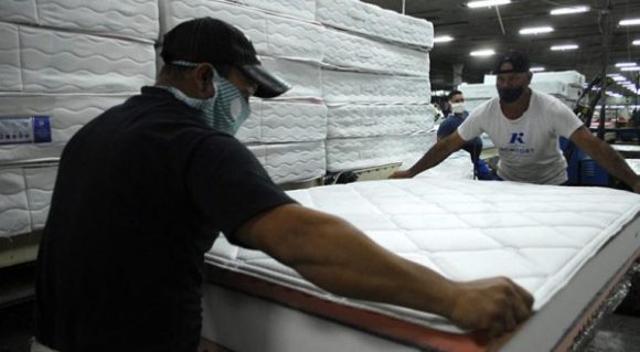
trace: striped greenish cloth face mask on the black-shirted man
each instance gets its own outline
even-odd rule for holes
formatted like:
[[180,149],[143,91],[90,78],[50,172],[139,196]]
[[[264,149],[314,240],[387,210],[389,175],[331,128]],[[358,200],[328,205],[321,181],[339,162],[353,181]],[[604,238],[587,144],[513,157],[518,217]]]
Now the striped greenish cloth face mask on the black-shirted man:
[[[189,62],[173,62],[173,65],[195,67]],[[213,67],[212,67],[213,70]],[[196,99],[184,95],[174,87],[167,87],[177,99],[202,110],[206,125],[215,130],[234,136],[250,115],[248,100],[231,82],[213,70],[214,95],[207,99]]]

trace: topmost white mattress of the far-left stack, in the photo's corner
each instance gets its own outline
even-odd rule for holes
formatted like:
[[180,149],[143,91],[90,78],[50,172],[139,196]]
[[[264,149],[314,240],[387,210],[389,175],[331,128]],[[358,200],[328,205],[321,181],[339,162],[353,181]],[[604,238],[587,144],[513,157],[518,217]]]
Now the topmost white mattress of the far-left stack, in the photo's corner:
[[2,0],[0,21],[151,42],[158,38],[158,0]]

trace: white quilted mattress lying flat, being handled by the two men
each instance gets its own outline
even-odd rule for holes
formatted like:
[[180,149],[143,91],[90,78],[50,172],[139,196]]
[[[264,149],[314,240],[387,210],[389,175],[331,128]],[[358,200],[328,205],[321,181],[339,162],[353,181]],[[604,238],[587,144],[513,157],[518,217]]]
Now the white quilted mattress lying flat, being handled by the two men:
[[[289,195],[348,220],[390,252],[450,279],[506,276],[524,287],[535,298],[536,314],[513,339],[514,343],[526,342],[509,351],[552,350],[555,339],[568,329],[564,324],[574,323],[583,311],[580,305],[601,291],[591,282],[609,282],[611,273],[640,255],[640,195],[631,192],[422,178],[321,186],[290,191]],[[328,294],[265,254],[233,246],[223,237],[216,239],[207,260],[215,273],[212,282],[217,285],[205,294],[204,305],[211,307],[203,335],[233,350],[252,350],[252,343],[253,350],[259,345],[260,351],[484,350],[441,317]],[[609,266],[604,263],[616,263],[612,271],[601,271]],[[233,296],[222,295],[220,287],[234,289]],[[235,290],[244,291],[243,298]],[[354,335],[360,332],[345,327],[331,330],[318,320],[307,326],[306,319],[298,318],[290,327],[288,319],[279,320],[273,303],[257,310],[264,319],[248,322],[236,318],[234,314],[245,317],[252,296],[268,297],[402,344],[393,349],[381,348],[378,342],[362,349],[335,345],[345,329]],[[564,303],[554,301],[556,296]],[[223,297],[232,299],[233,308],[216,303]],[[227,316],[226,310],[233,314]],[[242,334],[234,331],[237,329]],[[330,338],[322,340],[322,335]],[[424,339],[429,335],[435,339]],[[311,342],[314,337],[317,341]]]

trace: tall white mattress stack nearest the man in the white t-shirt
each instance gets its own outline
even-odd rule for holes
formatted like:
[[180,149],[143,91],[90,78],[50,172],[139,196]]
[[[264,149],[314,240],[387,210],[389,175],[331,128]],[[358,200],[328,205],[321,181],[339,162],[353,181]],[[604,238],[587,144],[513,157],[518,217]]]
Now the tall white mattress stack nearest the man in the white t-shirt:
[[431,23],[353,0],[317,1],[316,19],[327,28],[328,171],[410,167],[435,142]]

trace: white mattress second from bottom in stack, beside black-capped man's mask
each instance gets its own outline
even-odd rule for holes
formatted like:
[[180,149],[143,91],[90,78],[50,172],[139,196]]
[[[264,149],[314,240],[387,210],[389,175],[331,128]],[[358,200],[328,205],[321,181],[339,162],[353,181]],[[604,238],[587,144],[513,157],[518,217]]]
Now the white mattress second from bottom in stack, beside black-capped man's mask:
[[327,138],[327,106],[252,99],[252,115],[238,130],[243,142],[314,141]]

